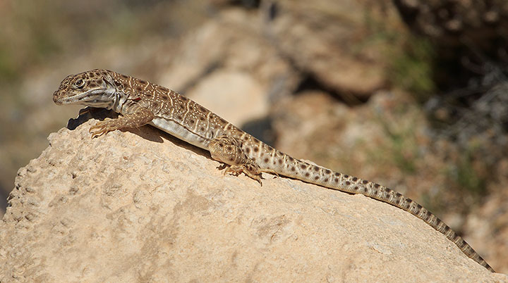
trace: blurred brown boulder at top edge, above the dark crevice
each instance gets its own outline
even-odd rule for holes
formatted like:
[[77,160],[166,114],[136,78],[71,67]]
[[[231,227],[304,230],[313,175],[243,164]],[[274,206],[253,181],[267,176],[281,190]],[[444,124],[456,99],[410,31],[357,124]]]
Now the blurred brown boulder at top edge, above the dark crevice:
[[[278,0],[267,34],[281,54],[327,89],[368,97],[387,86],[385,54],[373,44],[369,20],[378,1]],[[382,20],[392,17],[383,6]],[[269,13],[269,12],[267,12]],[[378,35],[377,35],[378,36]]]

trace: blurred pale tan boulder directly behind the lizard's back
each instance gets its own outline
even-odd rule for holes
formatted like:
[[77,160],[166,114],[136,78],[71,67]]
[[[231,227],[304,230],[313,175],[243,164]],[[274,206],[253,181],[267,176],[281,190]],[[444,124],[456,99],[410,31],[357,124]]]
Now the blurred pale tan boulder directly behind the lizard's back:
[[247,11],[222,11],[181,40],[157,82],[238,126],[267,116],[269,104],[289,96],[300,75],[260,25],[260,17]]

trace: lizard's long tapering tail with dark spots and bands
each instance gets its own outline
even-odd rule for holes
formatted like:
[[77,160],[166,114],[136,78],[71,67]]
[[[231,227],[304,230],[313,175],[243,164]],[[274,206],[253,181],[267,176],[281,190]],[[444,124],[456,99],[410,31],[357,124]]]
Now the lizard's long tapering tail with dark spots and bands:
[[485,260],[483,260],[483,258],[476,253],[476,251],[473,250],[466,241],[464,241],[464,239],[462,239],[462,237],[454,232],[452,228],[442,222],[442,220],[437,218],[437,216],[429,210],[416,203],[416,201],[399,194],[397,191],[358,177],[344,175],[318,165],[306,163],[296,158],[292,158],[285,153],[277,152],[274,156],[279,156],[279,158],[282,157],[284,162],[279,163],[279,165],[268,165],[267,167],[269,167],[270,170],[273,170],[280,175],[302,180],[303,182],[317,184],[329,189],[346,191],[351,194],[363,194],[406,210],[444,234],[444,236],[456,244],[456,246],[458,246],[459,249],[466,254],[466,256],[472,258],[491,272],[495,272],[490,265],[488,265],[488,263],[485,262]]

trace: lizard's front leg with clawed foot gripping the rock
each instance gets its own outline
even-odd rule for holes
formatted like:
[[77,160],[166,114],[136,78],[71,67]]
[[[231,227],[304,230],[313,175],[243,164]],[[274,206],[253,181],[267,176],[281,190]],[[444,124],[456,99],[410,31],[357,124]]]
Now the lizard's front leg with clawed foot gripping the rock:
[[93,139],[114,130],[141,127],[148,124],[151,120],[153,120],[153,118],[155,118],[155,115],[152,113],[152,111],[139,106],[135,108],[132,113],[121,115],[119,118],[106,118],[104,121],[97,122],[97,124],[90,127],[88,132],[92,134]]

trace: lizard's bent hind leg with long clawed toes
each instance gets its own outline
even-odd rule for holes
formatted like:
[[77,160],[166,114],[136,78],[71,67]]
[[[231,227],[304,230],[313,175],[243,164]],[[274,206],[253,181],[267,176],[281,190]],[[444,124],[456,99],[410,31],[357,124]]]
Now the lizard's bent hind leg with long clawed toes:
[[262,185],[260,167],[246,156],[241,146],[242,143],[238,139],[224,135],[212,139],[208,144],[208,150],[214,160],[229,165],[224,173],[238,175],[243,172]]

